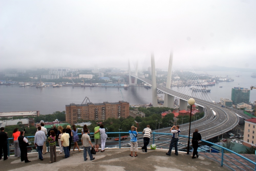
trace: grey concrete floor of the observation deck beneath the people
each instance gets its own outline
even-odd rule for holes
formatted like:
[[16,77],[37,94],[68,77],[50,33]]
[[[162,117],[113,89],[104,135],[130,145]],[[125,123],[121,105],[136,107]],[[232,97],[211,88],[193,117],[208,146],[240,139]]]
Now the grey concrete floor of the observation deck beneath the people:
[[[105,152],[97,152],[95,160],[90,160],[87,153],[87,161],[84,161],[83,150],[78,152],[70,152],[70,157],[68,159],[63,159],[64,152],[58,154],[57,161],[54,163],[49,163],[50,152],[43,155],[44,160],[38,159],[38,153],[28,153],[29,163],[21,162],[20,158],[10,156],[7,160],[0,160],[1,170],[28,170],[28,171],[66,171],[66,170],[89,170],[89,171],[197,171],[197,170],[207,170],[207,171],[224,171],[228,170],[225,167],[221,167],[219,163],[208,160],[207,158],[201,157],[192,159],[192,153],[187,154],[186,152],[180,152],[176,156],[174,151],[172,151],[171,156],[167,156],[165,149],[148,149],[148,152],[142,152],[139,149],[137,152],[138,157],[129,156],[130,148],[122,149],[105,149]],[[133,152],[134,155],[134,152]]]

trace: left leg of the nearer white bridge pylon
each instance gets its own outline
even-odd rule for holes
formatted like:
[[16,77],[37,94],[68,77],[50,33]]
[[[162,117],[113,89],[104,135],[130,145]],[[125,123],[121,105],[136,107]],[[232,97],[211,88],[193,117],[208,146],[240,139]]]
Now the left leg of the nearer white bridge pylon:
[[157,107],[157,86],[156,86],[156,69],[155,69],[155,56],[151,53],[151,77],[152,77],[152,105]]

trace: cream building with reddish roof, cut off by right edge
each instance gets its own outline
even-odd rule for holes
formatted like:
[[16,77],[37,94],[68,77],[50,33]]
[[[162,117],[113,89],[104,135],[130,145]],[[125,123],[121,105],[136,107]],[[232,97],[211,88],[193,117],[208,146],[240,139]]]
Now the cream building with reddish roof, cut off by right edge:
[[[244,142],[243,145],[247,147],[254,146],[256,144],[256,118],[247,119],[244,121]],[[255,137],[254,137],[255,136]],[[255,138],[255,139],[254,139]]]

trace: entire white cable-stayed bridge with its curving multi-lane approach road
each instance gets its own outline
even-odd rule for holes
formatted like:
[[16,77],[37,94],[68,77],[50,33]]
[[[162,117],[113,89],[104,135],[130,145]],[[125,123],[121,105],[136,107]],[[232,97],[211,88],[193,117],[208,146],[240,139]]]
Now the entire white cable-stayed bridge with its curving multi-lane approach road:
[[[161,70],[155,68],[155,58],[151,55],[151,77],[138,73],[131,74],[129,63],[129,83],[131,78],[142,80],[151,85],[152,105],[157,107],[157,94],[164,94],[164,107],[173,108],[174,98],[180,99],[180,110],[187,110],[188,99],[193,98],[198,105],[198,110],[205,113],[204,117],[191,123],[191,130],[198,129],[203,139],[219,136],[232,130],[238,124],[238,115],[229,108],[222,108],[212,102],[205,82],[201,82],[192,67],[186,61],[180,61],[172,66],[172,53],[169,62],[162,61]],[[188,134],[188,124],[180,127],[182,135]],[[170,128],[162,129],[168,132]],[[193,131],[191,131],[193,132]],[[191,135],[190,135],[191,136]]]

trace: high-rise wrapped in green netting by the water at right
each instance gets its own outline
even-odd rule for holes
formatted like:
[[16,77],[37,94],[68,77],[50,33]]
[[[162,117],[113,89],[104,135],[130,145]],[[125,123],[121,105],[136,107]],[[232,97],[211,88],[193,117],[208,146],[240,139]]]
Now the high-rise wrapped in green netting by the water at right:
[[231,100],[234,105],[250,102],[250,90],[248,88],[234,87],[231,92]]

